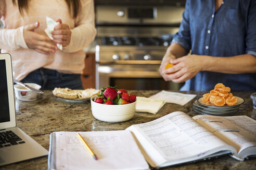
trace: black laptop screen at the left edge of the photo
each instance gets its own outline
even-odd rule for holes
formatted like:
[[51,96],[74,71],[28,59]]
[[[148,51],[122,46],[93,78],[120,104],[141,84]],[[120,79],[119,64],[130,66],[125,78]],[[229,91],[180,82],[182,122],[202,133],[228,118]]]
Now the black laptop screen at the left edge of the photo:
[[0,60],[0,123],[10,121],[5,60]]

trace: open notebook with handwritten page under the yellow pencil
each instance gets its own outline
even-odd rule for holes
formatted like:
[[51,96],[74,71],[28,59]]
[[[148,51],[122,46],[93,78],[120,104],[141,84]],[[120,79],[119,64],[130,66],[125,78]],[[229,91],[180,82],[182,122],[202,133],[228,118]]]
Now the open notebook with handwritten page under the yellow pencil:
[[[97,155],[92,155],[78,137]],[[54,132],[55,165],[50,169],[149,169],[129,131]],[[53,144],[54,145],[54,141]]]

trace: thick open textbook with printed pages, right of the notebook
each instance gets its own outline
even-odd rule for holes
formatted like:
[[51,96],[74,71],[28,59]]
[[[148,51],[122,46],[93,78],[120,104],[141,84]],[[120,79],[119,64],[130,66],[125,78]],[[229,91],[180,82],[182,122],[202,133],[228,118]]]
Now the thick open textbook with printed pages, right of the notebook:
[[256,155],[256,121],[247,116],[198,115],[176,111],[131,131],[152,167],[164,167],[226,153],[237,160]]

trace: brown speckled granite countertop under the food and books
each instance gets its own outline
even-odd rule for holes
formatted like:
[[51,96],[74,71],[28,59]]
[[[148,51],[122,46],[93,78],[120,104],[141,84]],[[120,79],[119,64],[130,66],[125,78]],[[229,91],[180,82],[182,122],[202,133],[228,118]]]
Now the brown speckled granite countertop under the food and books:
[[[149,97],[159,91],[128,91],[137,96]],[[176,91],[177,92],[177,91]],[[200,98],[206,91],[182,92],[197,94],[194,100]],[[256,109],[252,107],[251,92],[233,92],[234,95],[245,99],[237,115],[247,115],[256,120]],[[35,139],[47,150],[49,149],[49,134],[54,131],[111,131],[124,130],[132,124],[155,120],[173,111],[183,111],[193,117],[198,114],[191,109],[193,101],[184,106],[165,104],[156,115],[136,112],[133,119],[126,122],[108,123],[95,119],[91,111],[90,101],[84,103],[69,103],[53,95],[52,91],[45,91],[36,101],[16,101],[17,126]],[[47,156],[5,165],[0,169],[47,169]],[[237,161],[229,156],[218,159],[173,166],[166,169],[254,169],[256,159]]]

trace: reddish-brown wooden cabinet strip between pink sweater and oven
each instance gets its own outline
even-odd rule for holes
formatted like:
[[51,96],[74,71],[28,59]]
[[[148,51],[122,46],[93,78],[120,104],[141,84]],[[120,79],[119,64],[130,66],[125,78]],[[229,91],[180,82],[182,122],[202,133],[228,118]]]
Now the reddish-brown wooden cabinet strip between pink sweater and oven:
[[95,53],[86,53],[85,67],[81,75],[83,88],[95,88]]

